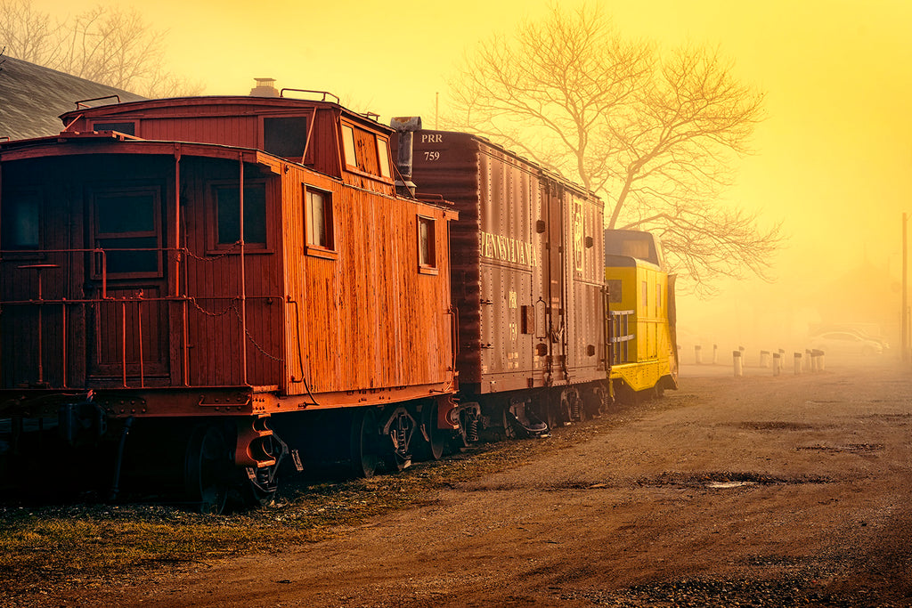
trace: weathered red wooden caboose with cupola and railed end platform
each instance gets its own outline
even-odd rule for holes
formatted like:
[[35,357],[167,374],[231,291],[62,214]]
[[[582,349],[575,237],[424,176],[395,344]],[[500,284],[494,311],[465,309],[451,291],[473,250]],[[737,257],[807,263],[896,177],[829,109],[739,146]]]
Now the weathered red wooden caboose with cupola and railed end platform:
[[455,427],[456,214],[397,194],[389,128],[316,98],[78,104],[0,143],[7,479],[101,454],[115,490],[219,509],[315,438],[369,475]]

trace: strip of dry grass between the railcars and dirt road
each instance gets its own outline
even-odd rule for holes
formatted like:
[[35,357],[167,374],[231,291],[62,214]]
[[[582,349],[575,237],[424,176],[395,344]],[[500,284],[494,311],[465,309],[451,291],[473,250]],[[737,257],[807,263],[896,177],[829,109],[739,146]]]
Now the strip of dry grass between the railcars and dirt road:
[[333,538],[368,518],[435,500],[440,489],[509,469],[615,426],[602,417],[550,438],[485,444],[373,479],[293,481],[266,507],[222,516],[178,506],[84,503],[0,505],[0,604],[26,605],[48,589],[97,587],[162,568],[281,551]]

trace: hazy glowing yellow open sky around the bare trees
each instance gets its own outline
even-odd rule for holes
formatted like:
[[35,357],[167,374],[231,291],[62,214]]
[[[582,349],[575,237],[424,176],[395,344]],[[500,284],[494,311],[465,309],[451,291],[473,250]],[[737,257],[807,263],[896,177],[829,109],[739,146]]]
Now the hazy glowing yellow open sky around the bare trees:
[[[462,55],[548,7],[546,0],[119,4],[136,5],[170,30],[170,67],[202,79],[206,93],[246,94],[254,77],[275,77],[279,87],[329,90],[384,120],[420,114],[429,126],[435,94],[444,100]],[[719,46],[743,80],[767,91],[757,155],[743,160],[727,199],[762,210],[769,222],[785,221],[790,245],[773,271],[782,281],[769,291],[794,290],[865,255],[898,273],[900,218],[912,212],[912,2],[603,4],[630,36]],[[36,5],[54,12],[74,6]],[[682,303],[682,310],[724,308],[757,292],[754,284],[726,286],[714,303]]]

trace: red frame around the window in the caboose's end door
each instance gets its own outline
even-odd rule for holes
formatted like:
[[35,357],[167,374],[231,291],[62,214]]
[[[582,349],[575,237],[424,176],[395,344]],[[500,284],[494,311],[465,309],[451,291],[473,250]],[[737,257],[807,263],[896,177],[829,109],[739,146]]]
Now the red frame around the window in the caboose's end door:
[[[99,194],[141,194],[144,192],[149,192],[152,195],[152,225],[153,228],[150,231],[139,231],[139,232],[100,232],[98,230],[98,195]],[[136,185],[136,186],[113,186],[113,187],[97,187],[92,188],[88,192],[88,202],[89,202],[89,217],[88,217],[88,226],[89,226],[89,245],[93,248],[98,246],[99,239],[130,239],[130,238],[144,238],[144,237],[154,237],[156,242],[156,249],[161,250],[165,247],[164,245],[164,234],[161,230],[161,186],[160,185]],[[117,248],[115,248],[117,249]],[[109,269],[106,269],[105,277],[109,281],[119,281],[119,280],[129,280],[129,279],[161,279],[164,276],[164,262],[162,251],[156,252],[156,270],[155,271],[144,271],[138,273],[117,273],[111,272]],[[92,254],[89,256],[91,259],[89,273],[93,280],[99,280],[102,278],[100,256]],[[108,264],[104,264],[105,267]]]

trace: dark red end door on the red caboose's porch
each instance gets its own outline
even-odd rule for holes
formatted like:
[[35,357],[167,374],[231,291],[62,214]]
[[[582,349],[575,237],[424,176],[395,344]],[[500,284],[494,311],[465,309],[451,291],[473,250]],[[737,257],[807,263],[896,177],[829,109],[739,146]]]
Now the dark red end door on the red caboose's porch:
[[130,386],[168,374],[159,186],[88,193],[88,376]]

